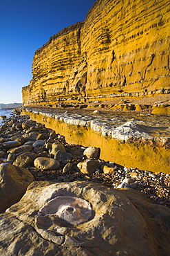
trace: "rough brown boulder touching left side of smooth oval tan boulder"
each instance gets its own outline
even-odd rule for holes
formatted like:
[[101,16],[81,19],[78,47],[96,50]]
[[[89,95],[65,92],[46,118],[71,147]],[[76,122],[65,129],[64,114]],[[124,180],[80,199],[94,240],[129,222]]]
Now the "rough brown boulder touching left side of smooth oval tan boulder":
[[38,157],[37,154],[34,154],[33,152],[25,152],[15,159],[13,162],[13,165],[26,168],[29,165],[32,165],[35,158]]

